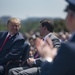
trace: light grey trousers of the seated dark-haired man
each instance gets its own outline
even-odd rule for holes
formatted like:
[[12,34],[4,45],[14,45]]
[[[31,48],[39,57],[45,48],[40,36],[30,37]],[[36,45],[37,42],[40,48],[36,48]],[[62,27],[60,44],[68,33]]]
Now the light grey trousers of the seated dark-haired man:
[[32,68],[18,67],[10,69],[8,75],[39,75],[39,74],[37,67]]

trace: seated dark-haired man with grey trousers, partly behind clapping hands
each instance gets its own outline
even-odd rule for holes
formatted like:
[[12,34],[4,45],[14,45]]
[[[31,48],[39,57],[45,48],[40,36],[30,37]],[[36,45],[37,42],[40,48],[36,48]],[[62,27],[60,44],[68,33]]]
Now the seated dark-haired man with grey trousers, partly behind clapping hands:
[[[44,41],[49,37],[52,40],[53,47],[60,47],[60,40],[53,34],[54,26],[52,21],[50,20],[42,20],[40,22],[40,34]],[[29,58],[27,63],[31,66],[26,69],[25,67],[13,68],[9,70],[9,75],[39,75],[41,63],[44,62],[45,59],[42,58]]]

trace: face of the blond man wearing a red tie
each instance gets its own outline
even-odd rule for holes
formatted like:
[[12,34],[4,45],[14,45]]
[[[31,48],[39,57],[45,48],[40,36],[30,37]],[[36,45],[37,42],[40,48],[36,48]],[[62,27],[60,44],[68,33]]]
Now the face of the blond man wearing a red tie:
[[14,35],[15,33],[17,33],[20,29],[20,24],[16,23],[15,21],[14,22],[10,22],[8,25],[7,25],[7,28],[9,30],[9,32]]

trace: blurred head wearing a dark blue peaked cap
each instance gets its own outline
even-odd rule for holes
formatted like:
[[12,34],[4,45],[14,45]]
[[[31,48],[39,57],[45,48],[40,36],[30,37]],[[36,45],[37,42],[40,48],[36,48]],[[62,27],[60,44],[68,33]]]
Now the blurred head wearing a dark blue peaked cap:
[[75,0],[67,0],[69,5],[66,8],[66,27],[70,32],[75,31]]

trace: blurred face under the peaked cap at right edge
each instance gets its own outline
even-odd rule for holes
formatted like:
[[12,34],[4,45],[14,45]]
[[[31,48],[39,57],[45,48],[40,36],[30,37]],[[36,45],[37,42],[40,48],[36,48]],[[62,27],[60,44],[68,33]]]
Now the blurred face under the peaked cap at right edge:
[[68,10],[67,12],[67,17],[66,17],[66,27],[70,32],[75,31],[75,17],[73,13]]

